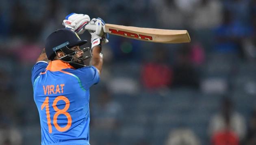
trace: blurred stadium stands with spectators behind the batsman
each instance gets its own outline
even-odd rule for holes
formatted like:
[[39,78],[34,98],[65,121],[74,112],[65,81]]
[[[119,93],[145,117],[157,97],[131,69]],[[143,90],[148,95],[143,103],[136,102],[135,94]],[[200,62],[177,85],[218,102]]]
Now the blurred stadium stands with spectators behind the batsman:
[[256,145],[256,0],[1,0],[0,145],[40,144],[31,68],[69,13],[192,40],[110,36],[91,88],[92,145]]

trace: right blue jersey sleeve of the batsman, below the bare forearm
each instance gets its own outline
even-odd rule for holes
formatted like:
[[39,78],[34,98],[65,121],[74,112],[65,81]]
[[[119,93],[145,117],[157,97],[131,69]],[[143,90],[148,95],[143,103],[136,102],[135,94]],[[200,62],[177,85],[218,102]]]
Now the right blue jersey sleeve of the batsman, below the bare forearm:
[[98,73],[97,68],[94,66],[91,67],[83,67],[77,69],[77,75],[82,83],[82,85],[88,89],[94,84],[99,83],[100,81],[100,75]]

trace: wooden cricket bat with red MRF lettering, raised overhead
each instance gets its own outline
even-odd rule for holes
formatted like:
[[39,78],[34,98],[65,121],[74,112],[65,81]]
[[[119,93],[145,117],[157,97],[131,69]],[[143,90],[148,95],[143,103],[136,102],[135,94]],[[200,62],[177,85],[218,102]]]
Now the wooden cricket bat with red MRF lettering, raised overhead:
[[[86,30],[95,31],[95,25],[87,24]],[[121,26],[105,24],[104,32],[122,37],[137,39],[141,41],[156,43],[189,43],[190,36],[187,30],[165,30],[154,28],[139,28],[131,26]]]

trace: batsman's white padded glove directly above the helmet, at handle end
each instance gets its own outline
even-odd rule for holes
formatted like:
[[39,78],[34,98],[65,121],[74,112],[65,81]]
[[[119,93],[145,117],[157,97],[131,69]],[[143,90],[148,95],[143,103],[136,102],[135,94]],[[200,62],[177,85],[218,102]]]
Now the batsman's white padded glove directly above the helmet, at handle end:
[[71,13],[63,20],[63,26],[74,30],[78,35],[85,32],[84,26],[90,21],[90,17],[84,14]]

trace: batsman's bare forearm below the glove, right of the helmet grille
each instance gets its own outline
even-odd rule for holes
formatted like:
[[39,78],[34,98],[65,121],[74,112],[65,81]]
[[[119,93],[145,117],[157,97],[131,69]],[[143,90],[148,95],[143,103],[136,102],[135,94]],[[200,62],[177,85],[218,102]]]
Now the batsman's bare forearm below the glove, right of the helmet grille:
[[92,55],[93,55],[92,65],[95,66],[95,68],[97,68],[100,73],[102,69],[102,64],[103,64],[103,55],[101,53],[101,47],[99,46],[93,47]]

